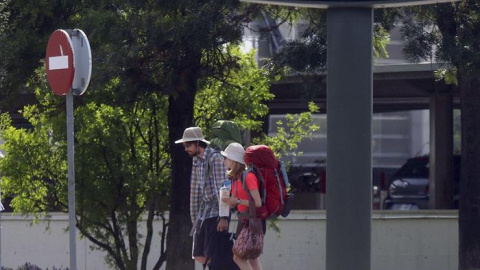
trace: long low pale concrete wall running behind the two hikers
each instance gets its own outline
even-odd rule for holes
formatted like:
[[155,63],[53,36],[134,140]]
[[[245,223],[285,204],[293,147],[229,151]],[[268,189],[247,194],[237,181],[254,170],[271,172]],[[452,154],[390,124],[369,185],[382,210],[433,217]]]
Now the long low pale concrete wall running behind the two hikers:
[[[31,221],[2,214],[2,265],[17,267],[31,262],[43,269],[68,267],[68,215],[52,214],[48,230],[44,222],[30,225]],[[297,210],[288,219],[280,219],[278,226],[281,234],[267,231],[261,257],[265,270],[325,269],[325,211]],[[109,269],[102,252],[91,250],[90,245],[86,239],[77,240],[78,269]],[[152,248],[152,255],[159,253],[158,244]],[[372,270],[457,269],[457,253],[456,211],[373,212]],[[197,269],[201,269],[199,265]]]

